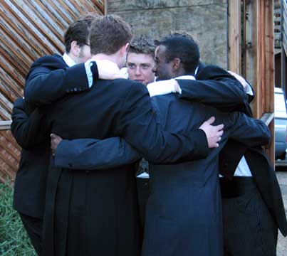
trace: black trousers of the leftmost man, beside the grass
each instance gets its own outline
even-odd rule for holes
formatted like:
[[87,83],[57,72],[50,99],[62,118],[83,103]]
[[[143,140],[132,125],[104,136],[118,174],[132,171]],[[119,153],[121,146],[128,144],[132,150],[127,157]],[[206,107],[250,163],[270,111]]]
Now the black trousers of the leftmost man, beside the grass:
[[23,213],[19,213],[19,215],[34,249],[38,255],[41,255],[43,220],[24,215]]

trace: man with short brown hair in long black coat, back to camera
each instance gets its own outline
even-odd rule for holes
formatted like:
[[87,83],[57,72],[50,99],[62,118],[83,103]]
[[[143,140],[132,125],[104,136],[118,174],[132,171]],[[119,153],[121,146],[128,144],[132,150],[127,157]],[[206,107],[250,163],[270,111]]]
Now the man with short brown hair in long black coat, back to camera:
[[[130,26],[121,18],[99,18],[91,31],[92,53],[96,60],[108,58],[120,66],[130,38]],[[88,65],[93,69],[94,64],[91,61]],[[34,65],[29,79],[41,79],[43,66]],[[83,72],[78,75],[80,80]],[[88,92],[68,95],[48,108],[51,131],[68,139],[120,135],[154,161],[176,161],[182,156],[202,158],[209,151],[207,137],[200,129],[188,134],[163,132],[146,88],[136,82],[98,80]],[[90,118],[93,112],[96,116]],[[52,159],[43,255],[136,255],[134,192],[131,166],[97,172],[59,170]]]

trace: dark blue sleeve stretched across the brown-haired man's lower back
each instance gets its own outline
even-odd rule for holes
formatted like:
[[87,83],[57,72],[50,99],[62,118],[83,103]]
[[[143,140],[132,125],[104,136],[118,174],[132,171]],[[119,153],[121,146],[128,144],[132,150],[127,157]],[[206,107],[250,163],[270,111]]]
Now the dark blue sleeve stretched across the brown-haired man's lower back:
[[120,137],[63,139],[56,149],[55,165],[68,169],[108,169],[132,164],[140,157],[140,153]]

